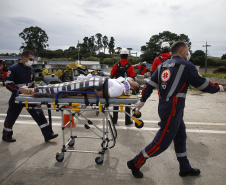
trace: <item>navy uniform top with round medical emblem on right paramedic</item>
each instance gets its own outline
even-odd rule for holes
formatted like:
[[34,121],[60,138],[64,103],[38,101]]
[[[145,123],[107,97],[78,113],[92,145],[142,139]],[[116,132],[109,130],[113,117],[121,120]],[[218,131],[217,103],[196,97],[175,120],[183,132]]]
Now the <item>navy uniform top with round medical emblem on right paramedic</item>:
[[158,66],[142,91],[141,101],[145,102],[153,89],[158,88],[160,109],[171,109],[173,101],[176,101],[176,108],[184,108],[189,85],[209,93],[220,89],[218,84],[201,77],[194,64],[173,56]]

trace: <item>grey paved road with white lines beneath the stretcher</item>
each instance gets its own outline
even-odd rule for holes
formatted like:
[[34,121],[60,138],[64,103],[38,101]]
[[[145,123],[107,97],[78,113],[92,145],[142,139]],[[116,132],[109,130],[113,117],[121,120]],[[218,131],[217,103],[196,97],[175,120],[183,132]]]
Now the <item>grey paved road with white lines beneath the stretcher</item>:
[[[0,129],[7,112],[10,93],[0,87]],[[98,154],[66,152],[62,162],[56,161],[56,152],[62,148],[60,113],[52,111],[53,130],[59,134],[45,143],[33,119],[24,109],[13,127],[15,143],[0,141],[0,184],[160,184],[160,185],[223,185],[226,184],[226,93],[204,94],[189,91],[184,121],[187,127],[187,153],[193,167],[201,170],[199,177],[181,178],[173,144],[161,155],[149,159],[141,168],[143,179],[135,179],[126,162],[138,154],[158,130],[157,92],[141,109],[144,127],[124,125],[120,114],[116,125],[118,137],[115,147],[106,151],[104,162],[98,165]],[[46,113],[46,111],[45,111]],[[47,115],[47,113],[46,113]],[[85,113],[97,125],[101,115]],[[89,130],[77,125],[73,133],[89,135]],[[65,130],[69,137],[70,130]],[[72,149],[100,150],[101,140],[76,139]]]

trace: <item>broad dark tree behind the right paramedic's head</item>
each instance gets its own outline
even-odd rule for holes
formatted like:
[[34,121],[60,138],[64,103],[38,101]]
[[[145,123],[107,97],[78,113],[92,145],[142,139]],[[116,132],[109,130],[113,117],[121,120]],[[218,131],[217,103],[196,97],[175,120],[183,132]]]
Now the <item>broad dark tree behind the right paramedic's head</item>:
[[146,45],[141,46],[141,51],[143,52],[142,60],[152,63],[154,59],[161,53],[162,42],[167,41],[170,43],[170,45],[172,45],[175,41],[179,40],[186,42],[189,48],[191,47],[190,39],[185,34],[177,35],[175,33],[171,33],[170,31],[164,31],[158,35],[153,35]]

